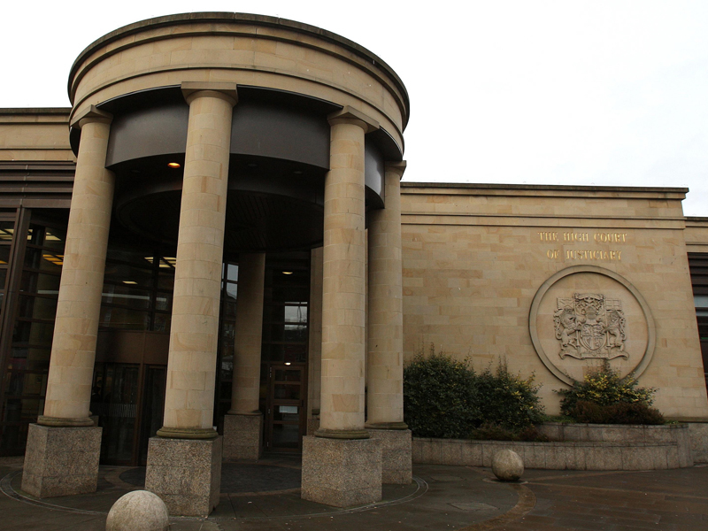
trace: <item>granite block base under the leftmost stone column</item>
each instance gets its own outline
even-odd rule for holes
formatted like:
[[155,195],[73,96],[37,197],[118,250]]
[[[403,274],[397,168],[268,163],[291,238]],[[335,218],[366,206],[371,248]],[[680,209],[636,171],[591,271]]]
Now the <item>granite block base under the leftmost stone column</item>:
[[96,492],[101,432],[30,424],[22,490],[39,498]]

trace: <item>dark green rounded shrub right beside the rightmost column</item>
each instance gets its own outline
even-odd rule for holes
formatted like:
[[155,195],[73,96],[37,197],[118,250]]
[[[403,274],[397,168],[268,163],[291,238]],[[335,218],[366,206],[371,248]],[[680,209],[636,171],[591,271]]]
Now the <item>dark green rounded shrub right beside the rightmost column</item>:
[[435,353],[404,367],[404,420],[419,437],[464,438],[479,417],[473,370]]

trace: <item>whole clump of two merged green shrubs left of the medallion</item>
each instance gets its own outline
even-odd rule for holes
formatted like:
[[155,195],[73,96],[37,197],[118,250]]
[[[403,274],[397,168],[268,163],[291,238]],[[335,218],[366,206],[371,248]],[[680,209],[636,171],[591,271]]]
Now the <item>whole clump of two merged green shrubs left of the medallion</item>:
[[497,436],[519,440],[520,430],[543,421],[538,389],[533,377],[522,380],[504,363],[475,373],[431,345],[427,357],[419,353],[404,367],[404,419],[419,437],[476,437],[475,428],[493,426]]

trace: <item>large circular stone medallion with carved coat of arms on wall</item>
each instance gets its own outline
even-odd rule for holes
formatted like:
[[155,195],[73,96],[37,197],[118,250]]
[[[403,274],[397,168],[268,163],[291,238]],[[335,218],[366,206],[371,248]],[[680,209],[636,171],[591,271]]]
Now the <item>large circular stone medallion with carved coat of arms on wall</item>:
[[597,266],[572,266],[543,282],[528,318],[543,364],[573,385],[607,360],[639,377],[654,352],[649,305],[627,279]]

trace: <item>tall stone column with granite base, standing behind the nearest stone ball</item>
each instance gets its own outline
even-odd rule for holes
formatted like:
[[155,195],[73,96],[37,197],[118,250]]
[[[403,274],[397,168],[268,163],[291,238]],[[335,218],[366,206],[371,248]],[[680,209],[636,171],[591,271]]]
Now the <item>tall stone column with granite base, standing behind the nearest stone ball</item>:
[[[145,489],[170,514],[205,516],[219,504],[221,438],[213,428],[221,263],[231,118],[229,83],[182,83],[189,126],[174,271],[165,419],[150,439]],[[201,489],[194,489],[201,485]]]

